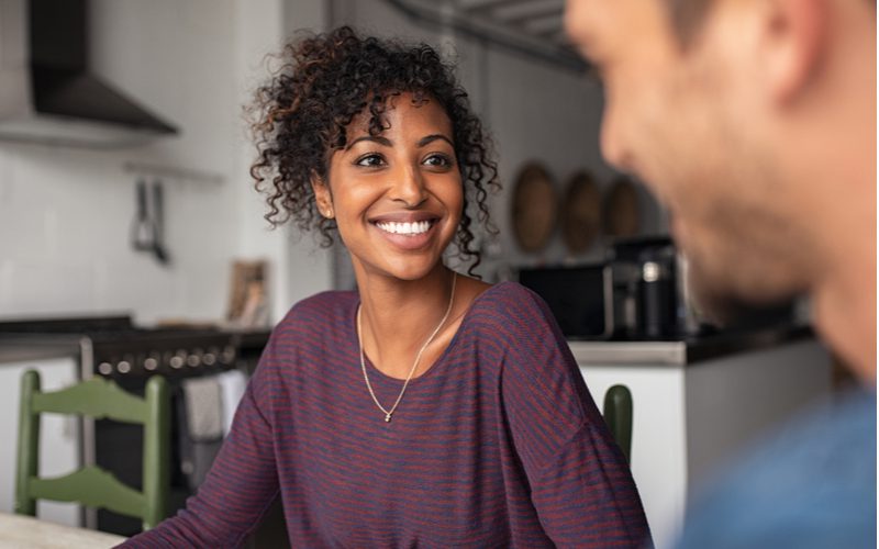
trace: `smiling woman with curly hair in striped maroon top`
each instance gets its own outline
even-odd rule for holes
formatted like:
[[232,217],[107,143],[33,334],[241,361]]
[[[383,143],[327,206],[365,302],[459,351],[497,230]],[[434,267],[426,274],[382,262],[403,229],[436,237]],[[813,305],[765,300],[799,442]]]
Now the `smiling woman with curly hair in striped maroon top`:
[[[625,461],[545,304],[443,264],[496,184],[427,46],[351,29],[293,43],[263,88],[270,221],[351,253],[357,292],[280,322],[207,481],[131,547],[237,546],[280,494],[293,547],[638,546]],[[259,187],[259,183],[257,183]]]

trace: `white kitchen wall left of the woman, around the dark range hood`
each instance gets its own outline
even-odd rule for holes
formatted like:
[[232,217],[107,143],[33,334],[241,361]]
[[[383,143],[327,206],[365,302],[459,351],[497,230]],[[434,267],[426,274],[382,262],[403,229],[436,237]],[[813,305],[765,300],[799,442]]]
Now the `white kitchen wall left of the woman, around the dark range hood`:
[[[289,232],[266,231],[247,173],[254,149],[242,104],[266,74],[263,55],[282,42],[285,18],[302,19],[298,3],[91,2],[96,71],[180,135],[113,152],[0,142],[0,317],[131,311],[143,323],[219,320],[236,257],[271,261],[275,318],[330,285],[329,259],[312,255],[311,240],[294,245]],[[320,13],[313,5],[310,24]],[[223,179],[165,179],[168,268],[129,245],[130,161]]]

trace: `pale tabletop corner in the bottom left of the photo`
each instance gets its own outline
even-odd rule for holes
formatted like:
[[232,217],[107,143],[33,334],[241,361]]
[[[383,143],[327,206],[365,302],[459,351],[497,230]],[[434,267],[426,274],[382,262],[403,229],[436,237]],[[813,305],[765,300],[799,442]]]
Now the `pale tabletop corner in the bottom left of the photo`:
[[0,513],[0,549],[101,549],[125,541],[122,536]]

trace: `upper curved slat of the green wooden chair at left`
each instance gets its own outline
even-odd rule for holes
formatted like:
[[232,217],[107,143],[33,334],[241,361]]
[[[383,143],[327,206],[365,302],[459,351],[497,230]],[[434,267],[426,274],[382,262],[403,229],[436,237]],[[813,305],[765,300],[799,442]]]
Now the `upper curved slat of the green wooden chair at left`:
[[68,389],[34,394],[32,412],[82,414],[96,419],[143,424],[147,406],[143,399],[126,393],[115,382],[91,378]]

